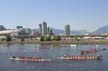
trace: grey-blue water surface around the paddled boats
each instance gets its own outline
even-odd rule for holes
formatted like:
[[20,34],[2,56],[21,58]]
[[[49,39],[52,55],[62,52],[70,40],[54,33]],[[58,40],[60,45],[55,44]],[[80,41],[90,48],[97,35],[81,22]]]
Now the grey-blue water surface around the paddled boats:
[[[90,55],[102,55],[102,61],[55,60],[63,55],[80,55],[80,50],[106,48]],[[51,58],[51,62],[19,62],[9,60],[12,56],[38,56]],[[66,45],[66,44],[14,44],[0,45],[0,71],[107,71],[108,45]]]

